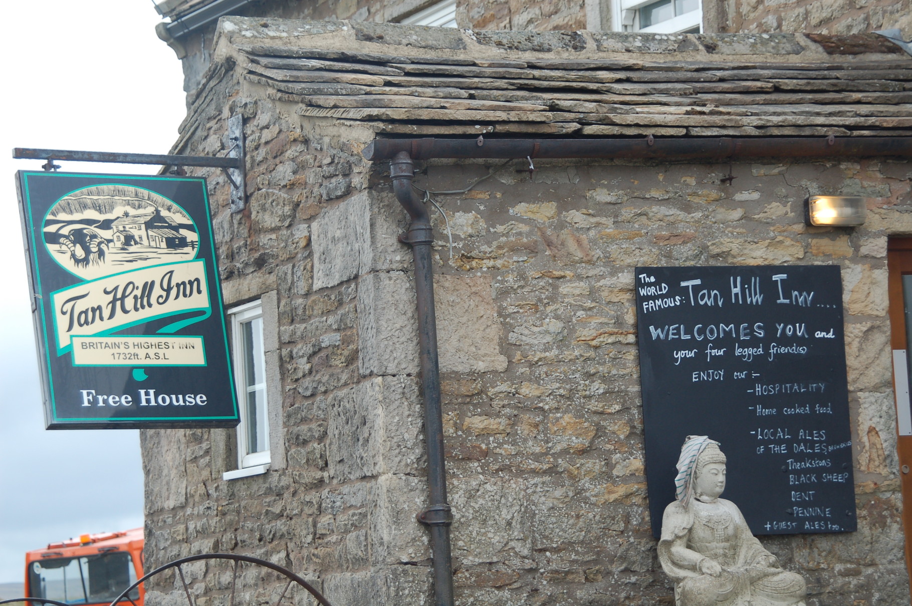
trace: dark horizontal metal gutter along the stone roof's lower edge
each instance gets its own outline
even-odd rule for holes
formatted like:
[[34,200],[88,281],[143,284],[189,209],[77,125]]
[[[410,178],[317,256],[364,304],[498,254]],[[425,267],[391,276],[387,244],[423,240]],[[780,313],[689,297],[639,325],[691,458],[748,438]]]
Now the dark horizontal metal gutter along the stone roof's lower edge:
[[375,139],[369,160],[412,159],[736,159],[912,156],[912,137],[752,137],[656,139]]

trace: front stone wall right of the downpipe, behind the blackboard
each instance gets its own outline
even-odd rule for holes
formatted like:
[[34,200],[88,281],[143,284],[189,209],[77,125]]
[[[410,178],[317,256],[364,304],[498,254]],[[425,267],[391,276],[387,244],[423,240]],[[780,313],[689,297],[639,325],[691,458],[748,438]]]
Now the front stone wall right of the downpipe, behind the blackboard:
[[[909,164],[734,164],[734,186],[718,165],[522,168],[441,197],[454,252],[440,238],[440,272],[490,296],[477,300],[509,361],[444,375],[462,603],[668,600],[644,497],[633,268],[816,262],[843,268],[859,531],[764,544],[805,576],[809,603],[905,603],[905,580],[884,584],[905,579],[885,254],[886,232],[909,229],[891,224],[912,202]],[[432,166],[425,182],[459,190],[487,169]],[[803,199],[824,191],[881,207],[855,231],[807,228]]]

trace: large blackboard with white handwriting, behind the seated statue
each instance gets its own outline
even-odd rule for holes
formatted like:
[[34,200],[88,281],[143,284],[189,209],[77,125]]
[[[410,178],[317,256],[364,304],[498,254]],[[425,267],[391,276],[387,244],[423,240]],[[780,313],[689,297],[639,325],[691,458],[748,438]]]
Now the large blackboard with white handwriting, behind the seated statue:
[[652,529],[685,437],[728,457],[755,534],[855,530],[836,266],[640,267],[637,332]]

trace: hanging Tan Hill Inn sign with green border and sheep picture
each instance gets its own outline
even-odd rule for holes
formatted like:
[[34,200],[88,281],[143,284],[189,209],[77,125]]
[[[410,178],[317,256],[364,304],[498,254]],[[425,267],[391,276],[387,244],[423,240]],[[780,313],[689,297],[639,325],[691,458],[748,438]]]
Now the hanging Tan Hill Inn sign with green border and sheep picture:
[[205,180],[17,186],[47,428],[236,426]]

